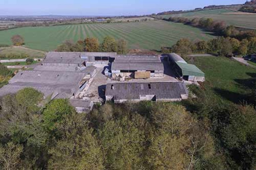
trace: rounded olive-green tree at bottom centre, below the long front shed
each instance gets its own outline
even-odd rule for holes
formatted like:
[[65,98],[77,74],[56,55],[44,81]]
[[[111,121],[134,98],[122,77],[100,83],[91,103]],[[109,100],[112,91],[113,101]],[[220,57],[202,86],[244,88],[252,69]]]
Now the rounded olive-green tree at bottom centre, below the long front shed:
[[145,147],[144,131],[127,116],[107,121],[99,132],[106,154],[106,169],[139,169]]

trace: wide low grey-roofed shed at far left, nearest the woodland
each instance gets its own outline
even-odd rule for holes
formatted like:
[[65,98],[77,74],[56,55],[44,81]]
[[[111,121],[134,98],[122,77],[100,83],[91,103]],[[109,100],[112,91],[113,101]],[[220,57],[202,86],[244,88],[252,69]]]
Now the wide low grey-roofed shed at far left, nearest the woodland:
[[72,72],[48,72],[48,71],[21,71],[16,74],[8,85],[0,89],[0,95],[15,93],[24,87],[33,87],[42,93],[45,97],[70,98],[76,96],[83,90],[88,79],[89,73]]

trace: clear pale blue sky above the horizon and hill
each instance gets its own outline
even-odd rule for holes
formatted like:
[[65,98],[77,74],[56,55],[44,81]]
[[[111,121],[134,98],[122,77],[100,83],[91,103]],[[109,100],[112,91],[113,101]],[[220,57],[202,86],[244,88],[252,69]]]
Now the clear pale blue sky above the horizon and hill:
[[245,0],[0,0],[0,15],[142,15]]

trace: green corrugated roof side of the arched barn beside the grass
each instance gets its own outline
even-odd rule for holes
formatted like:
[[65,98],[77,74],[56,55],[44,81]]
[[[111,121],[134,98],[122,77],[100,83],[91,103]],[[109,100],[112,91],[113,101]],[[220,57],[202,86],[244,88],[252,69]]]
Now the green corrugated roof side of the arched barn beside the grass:
[[175,62],[175,63],[180,67],[182,71],[182,76],[204,77],[204,72],[202,72],[193,64],[180,63],[180,62]]

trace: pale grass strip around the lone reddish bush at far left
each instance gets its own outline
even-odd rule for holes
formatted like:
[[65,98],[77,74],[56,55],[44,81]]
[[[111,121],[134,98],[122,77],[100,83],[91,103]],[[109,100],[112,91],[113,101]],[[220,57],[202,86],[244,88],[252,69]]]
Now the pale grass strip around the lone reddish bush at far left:
[[[0,48],[0,55],[8,55],[8,54],[27,54],[29,57],[33,58],[42,58],[45,56],[45,52],[43,51],[37,51],[37,50],[32,50],[28,48],[23,48],[23,47],[1,47]],[[3,58],[1,58],[3,59]]]

